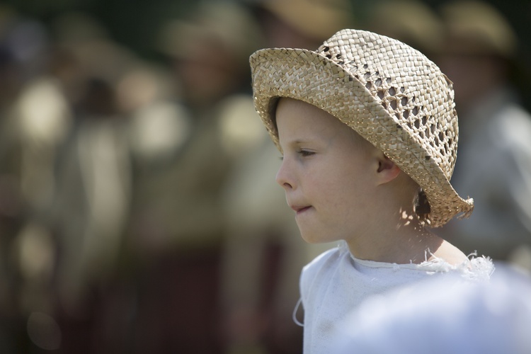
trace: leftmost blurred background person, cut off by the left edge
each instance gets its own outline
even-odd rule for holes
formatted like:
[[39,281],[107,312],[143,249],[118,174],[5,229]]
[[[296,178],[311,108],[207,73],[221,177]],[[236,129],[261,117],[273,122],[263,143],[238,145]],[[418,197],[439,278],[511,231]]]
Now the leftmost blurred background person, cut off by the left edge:
[[35,341],[56,349],[57,322],[46,315],[55,307],[57,259],[50,207],[72,111],[54,77],[47,28],[4,6],[0,75],[0,349],[28,348],[20,335],[33,314],[43,314],[46,324],[32,329],[50,329],[50,336]]

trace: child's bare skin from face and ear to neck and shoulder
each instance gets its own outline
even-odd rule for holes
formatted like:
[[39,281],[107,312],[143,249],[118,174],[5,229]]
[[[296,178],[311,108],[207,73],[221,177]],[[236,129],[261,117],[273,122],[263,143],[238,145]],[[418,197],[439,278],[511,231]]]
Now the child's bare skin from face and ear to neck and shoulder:
[[280,99],[275,117],[282,148],[276,179],[305,241],[346,240],[356,258],[371,261],[467,261],[418,221],[418,185],[350,127],[291,98]]

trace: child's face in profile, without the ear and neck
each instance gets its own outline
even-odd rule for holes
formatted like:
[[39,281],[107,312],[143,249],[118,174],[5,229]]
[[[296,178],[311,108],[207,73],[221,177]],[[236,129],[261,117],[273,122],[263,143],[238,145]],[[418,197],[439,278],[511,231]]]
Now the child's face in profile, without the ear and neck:
[[276,111],[284,156],[277,182],[307,242],[353,239],[374,217],[377,152],[314,105],[282,98]]

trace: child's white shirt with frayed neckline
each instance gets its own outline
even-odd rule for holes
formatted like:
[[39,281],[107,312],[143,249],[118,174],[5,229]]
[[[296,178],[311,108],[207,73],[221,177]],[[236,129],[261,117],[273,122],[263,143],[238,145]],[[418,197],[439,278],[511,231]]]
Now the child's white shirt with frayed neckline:
[[433,276],[459,273],[470,280],[487,280],[493,271],[488,258],[473,258],[472,268],[445,261],[396,264],[354,258],[348,246],[322,253],[302,270],[304,353],[331,353],[331,339],[345,316],[369,297],[384,297],[396,287]]

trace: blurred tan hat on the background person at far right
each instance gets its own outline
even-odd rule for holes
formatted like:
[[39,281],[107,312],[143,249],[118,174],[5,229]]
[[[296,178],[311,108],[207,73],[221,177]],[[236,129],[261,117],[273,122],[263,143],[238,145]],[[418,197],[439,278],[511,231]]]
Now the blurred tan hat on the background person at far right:
[[454,1],[440,8],[447,38],[441,50],[456,55],[496,55],[510,59],[517,36],[503,14],[483,1]]

